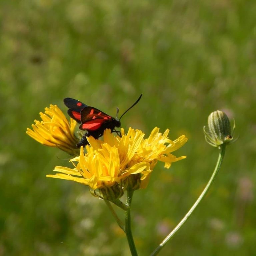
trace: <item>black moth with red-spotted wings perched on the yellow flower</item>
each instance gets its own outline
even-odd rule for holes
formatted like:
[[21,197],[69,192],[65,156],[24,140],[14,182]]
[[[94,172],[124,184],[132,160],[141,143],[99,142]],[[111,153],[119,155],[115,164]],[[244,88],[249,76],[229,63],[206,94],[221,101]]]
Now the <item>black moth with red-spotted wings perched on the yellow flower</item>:
[[81,123],[81,125],[79,126],[80,130],[87,131],[83,135],[82,139],[76,144],[76,146],[79,148],[81,146],[84,147],[85,145],[88,145],[89,143],[86,137],[92,136],[95,139],[98,139],[103,135],[105,129],[110,129],[111,132],[116,132],[120,134],[119,131],[116,131],[115,127],[121,127],[120,119],[128,110],[130,110],[139,102],[141,96],[142,94],[137,99],[137,101],[121,115],[119,120],[117,118],[113,118],[112,116],[102,112],[97,108],[87,106],[79,100],[65,98],[64,104],[69,108],[69,116],[75,119],[78,123]]

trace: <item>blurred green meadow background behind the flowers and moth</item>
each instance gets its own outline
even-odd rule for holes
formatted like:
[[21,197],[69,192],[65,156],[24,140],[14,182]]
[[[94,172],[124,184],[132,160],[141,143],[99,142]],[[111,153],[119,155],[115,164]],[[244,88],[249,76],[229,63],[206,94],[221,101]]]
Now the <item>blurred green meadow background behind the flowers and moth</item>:
[[[122,255],[126,238],[87,187],[48,179],[68,155],[25,134],[39,112],[72,97],[122,126],[181,134],[136,191],[132,229],[149,255],[192,206],[218,150],[203,126],[214,110],[236,119],[214,186],[159,255],[256,255],[256,2],[230,0],[0,1],[0,255]],[[121,214],[121,212],[119,212]]]

